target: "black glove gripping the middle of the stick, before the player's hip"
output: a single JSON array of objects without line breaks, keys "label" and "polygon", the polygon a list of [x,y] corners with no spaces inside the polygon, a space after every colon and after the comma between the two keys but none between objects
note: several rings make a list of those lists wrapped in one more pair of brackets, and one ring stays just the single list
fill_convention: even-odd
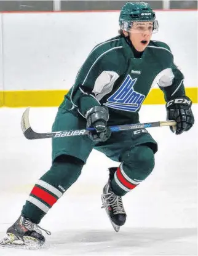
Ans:
[{"label": "black glove gripping the middle of the stick, before the player's hip", "polygon": [[93,142],[105,142],[111,135],[111,130],[106,126],[109,111],[105,106],[93,106],[86,113],[87,128],[94,127],[88,136]]}]

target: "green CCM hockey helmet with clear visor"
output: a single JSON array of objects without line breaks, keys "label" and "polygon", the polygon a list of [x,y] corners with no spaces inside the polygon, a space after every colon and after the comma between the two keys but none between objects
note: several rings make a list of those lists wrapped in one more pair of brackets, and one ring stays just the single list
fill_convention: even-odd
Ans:
[{"label": "green CCM hockey helmet with clear visor", "polygon": [[147,2],[127,2],[121,9],[119,25],[122,30],[130,31],[133,22],[152,22],[153,33],[158,31],[156,14]]}]

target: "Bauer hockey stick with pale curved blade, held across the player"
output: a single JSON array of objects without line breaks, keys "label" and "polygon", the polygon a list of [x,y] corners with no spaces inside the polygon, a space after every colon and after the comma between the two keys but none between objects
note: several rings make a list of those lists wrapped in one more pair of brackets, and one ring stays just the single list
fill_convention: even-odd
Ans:
[{"label": "Bauer hockey stick with pale curved blade, held across the player", "polygon": [[[46,132],[38,133],[34,132],[31,129],[29,121],[29,111],[30,108],[26,108],[25,112],[22,115],[21,126],[23,134],[28,140],[35,140],[38,138],[60,138],[68,136],[77,136],[77,135],[87,135],[89,130],[95,130],[94,128],[89,128],[87,130],[60,130],[58,132]],[[121,126],[109,126],[111,132],[119,132],[121,130],[134,130],[138,128],[149,128],[149,127],[160,127],[160,126],[175,126],[176,122],[173,120],[167,121],[158,121],[158,122],[145,122],[143,124],[123,124]]]}]

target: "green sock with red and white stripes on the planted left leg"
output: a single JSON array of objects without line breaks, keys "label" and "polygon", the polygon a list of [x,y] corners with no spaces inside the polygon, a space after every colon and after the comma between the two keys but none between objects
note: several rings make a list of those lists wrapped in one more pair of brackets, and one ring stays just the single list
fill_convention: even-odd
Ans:
[{"label": "green sock with red and white stripes on the planted left leg", "polygon": [[34,185],[22,215],[38,224],[49,209],[76,182],[84,162],[71,156],[59,156],[52,167]]}]

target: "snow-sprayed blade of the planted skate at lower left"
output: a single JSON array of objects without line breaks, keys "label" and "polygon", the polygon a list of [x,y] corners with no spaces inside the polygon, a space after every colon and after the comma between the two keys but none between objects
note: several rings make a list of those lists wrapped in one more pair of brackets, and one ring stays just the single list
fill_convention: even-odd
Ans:
[{"label": "snow-sprayed blade of the planted skate at lower left", "polygon": [[42,246],[36,238],[23,236],[23,241],[17,239],[14,234],[7,234],[7,237],[0,242],[1,247],[18,248],[18,249],[39,249]]}]

